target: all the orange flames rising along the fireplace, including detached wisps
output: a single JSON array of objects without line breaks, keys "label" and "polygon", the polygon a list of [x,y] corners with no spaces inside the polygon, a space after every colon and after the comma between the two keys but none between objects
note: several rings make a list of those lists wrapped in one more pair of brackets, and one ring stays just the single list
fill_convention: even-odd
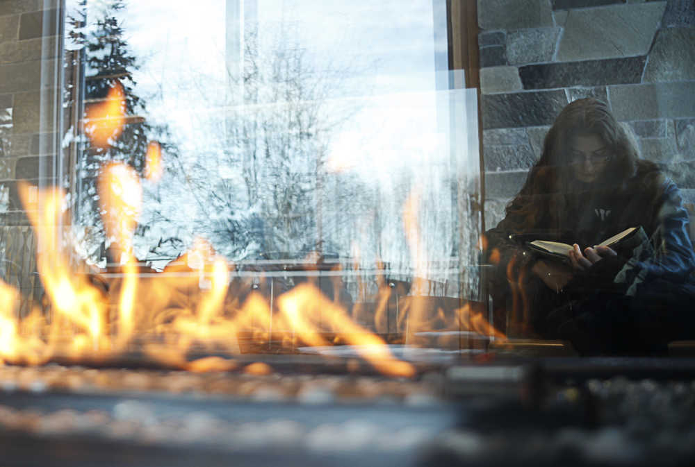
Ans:
[{"label": "all the orange flames rising along the fireplace, including detached wisps", "polygon": [[[106,101],[92,104],[86,111],[85,133],[94,146],[115,142],[125,123],[124,112],[123,87],[115,82]],[[156,182],[163,171],[157,142],[149,144],[145,160],[145,178]],[[480,309],[468,304],[456,309],[434,306],[432,297],[424,295],[428,259],[418,230],[418,190],[403,209],[414,265],[411,291],[392,287],[384,277],[384,265],[377,264],[377,292],[366,306],[367,287],[360,278],[358,261],[356,269],[349,272],[357,277],[363,300],[346,309],[339,300],[343,287],[340,266],[332,269],[334,300],[322,294],[318,281],[311,280],[270,300],[259,291],[243,299],[235,296],[236,291],[249,289],[250,282],[240,285],[241,279],[233,274],[234,265],[217,255],[204,239],[196,239],[190,251],[164,273],[154,273],[138,264],[133,251],[133,235],[142,211],[140,176],[126,164],[111,162],[101,168],[97,185],[99,209],[111,245],[111,266],[103,275],[103,271],[76,271],[63,228],[70,226],[65,194],[57,188],[39,190],[21,185],[20,195],[36,232],[37,268],[49,305],[19,319],[21,297],[0,281],[0,303],[4,304],[0,305],[0,364],[42,364],[54,356],[77,361],[109,358],[137,346],[162,364],[189,371],[270,373],[272,368],[262,362],[242,369],[231,358],[207,356],[188,361],[188,355],[196,352],[237,355],[247,345],[240,336],[250,335],[254,343],[268,342],[269,347],[272,343],[288,348],[347,343],[385,375],[413,377],[416,369],[412,364],[396,359],[382,337],[358,324],[366,323],[371,315],[376,332],[391,334],[391,301],[398,311],[395,331],[404,334],[406,343],[415,344],[417,332],[433,329],[470,330],[505,338],[484,319]],[[352,249],[359,258],[359,245]],[[234,287],[230,287],[232,283]]]}]

